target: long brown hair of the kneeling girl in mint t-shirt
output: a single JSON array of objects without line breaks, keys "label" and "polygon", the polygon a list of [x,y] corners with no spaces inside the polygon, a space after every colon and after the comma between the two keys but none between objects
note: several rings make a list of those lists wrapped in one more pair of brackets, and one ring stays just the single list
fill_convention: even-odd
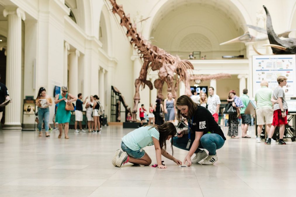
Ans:
[{"label": "long brown hair of the kneeling girl in mint t-shirt", "polygon": [[158,132],[159,132],[159,145],[160,145],[160,148],[162,150],[164,150],[164,151],[166,150],[166,142],[165,141],[168,139],[169,135],[172,135],[172,140],[170,141],[170,148],[172,149],[173,154],[174,154],[173,137],[177,133],[175,125],[173,125],[173,123],[171,123],[171,122],[165,122],[162,125],[145,125],[144,127],[147,127],[147,126],[151,126],[151,128],[154,127],[154,128],[156,128],[156,130],[158,130]]}]

